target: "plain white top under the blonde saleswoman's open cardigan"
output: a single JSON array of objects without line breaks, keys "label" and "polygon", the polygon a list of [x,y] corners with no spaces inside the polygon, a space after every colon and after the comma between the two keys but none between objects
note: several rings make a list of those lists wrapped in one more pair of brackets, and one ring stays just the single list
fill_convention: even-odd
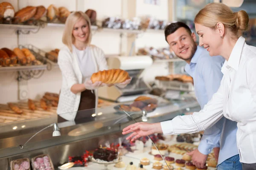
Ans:
[{"label": "plain white top under the blonde saleswoman's open cardigan", "polygon": [[92,74],[95,73],[93,57],[91,56],[90,49],[88,47],[84,50],[79,50],[75,45],[73,45],[73,49],[76,51],[79,68],[83,75],[82,82],[84,82],[85,79],[90,78]]}]

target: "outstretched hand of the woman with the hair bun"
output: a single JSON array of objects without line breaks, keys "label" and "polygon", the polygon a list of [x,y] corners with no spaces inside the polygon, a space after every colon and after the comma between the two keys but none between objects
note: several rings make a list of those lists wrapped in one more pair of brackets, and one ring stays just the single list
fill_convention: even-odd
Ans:
[{"label": "outstretched hand of the woman with the hair bun", "polygon": [[122,134],[125,135],[131,132],[133,133],[130,136],[128,136],[126,140],[130,140],[132,138],[131,141],[135,141],[141,136],[147,136],[154,133],[163,133],[163,130],[160,123],[140,122],[125,127],[123,129]]}]

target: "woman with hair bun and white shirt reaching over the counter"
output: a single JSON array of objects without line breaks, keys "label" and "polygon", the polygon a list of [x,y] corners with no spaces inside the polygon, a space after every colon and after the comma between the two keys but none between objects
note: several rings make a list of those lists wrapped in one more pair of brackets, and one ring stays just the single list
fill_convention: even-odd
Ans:
[{"label": "woman with hair bun and white shirt reaching over the counter", "polygon": [[177,116],[166,122],[136,123],[125,127],[127,139],[138,139],[152,133],[195,133],[215,124],[222,116],[237,122],[236,142],[243,170],[256,170],[256,47],[247,45],[239,33],[248,28],[248,14],[233,12],[222,3],[210,3],[195,17],[199,45],[211,56],[226,61],[218,91],[193,115]]}]

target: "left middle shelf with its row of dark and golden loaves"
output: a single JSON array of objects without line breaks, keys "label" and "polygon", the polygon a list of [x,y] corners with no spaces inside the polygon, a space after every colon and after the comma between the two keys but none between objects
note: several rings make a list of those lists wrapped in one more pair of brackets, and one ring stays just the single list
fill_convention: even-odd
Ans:
[{"label": "left middle shelf with its row of dark and golden loaves", "polygon": [[0,49],[0,72],[46,69],[46,58],[35,52],[31,45]]}]

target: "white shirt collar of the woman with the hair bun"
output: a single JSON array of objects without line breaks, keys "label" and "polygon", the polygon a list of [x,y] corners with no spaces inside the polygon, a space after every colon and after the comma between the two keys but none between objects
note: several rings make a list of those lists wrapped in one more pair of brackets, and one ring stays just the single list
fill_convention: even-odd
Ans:
[{"label": "white shirt collar of the woman with the hair bun", "polygon": [[233,69],[235,69],[236,71],[238,70],[238,67],[239,67],[239,62],[240,62],[240,58],[241,58],[241,53],[242,53],[242,49],[243,49],[243,46],[244,46],[244,42],[245,42],[245,38],[244,37],[240,37],[231,54],[230,54],[230,57],[227,61],[227,65],[232,67]]}]

